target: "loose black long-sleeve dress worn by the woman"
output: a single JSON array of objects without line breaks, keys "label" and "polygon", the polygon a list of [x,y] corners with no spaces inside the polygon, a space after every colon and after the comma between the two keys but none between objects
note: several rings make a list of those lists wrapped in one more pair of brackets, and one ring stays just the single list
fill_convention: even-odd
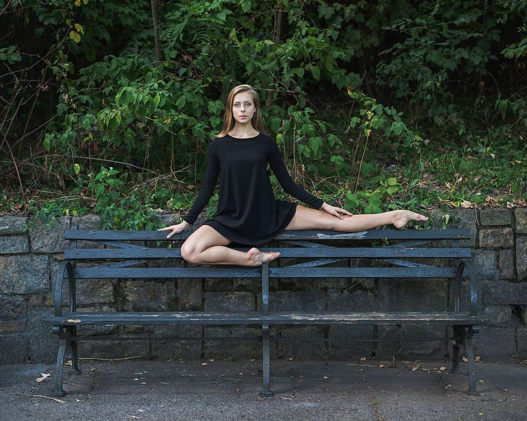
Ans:
[{"label": "loose black long-sleeve dress worn by the woman", "polygon": [[286,193],[316,209],[323,205],[322,199],[292,181],[272,137],[264,133],[249,138],[225,135],[210,142],[203,186],[183,219],[194,223],[209,203],[220,175],[217,212],[203,224],[216,229],[231,243],[257,245],[276,237],[291,222],[296,203],[275,198],[268,162]]}]

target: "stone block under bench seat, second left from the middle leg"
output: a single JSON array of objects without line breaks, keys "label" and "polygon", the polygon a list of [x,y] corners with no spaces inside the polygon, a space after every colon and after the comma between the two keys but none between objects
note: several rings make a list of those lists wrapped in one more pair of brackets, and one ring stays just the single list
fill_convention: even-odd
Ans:
[{"label": "stone block under bench seat, second left from the middle leg", "polygon": [[[152,326],[152,337],[201,337],[201,326]],[[151,340],[150,356],[158,359],[201,359],[201,340]]]}]

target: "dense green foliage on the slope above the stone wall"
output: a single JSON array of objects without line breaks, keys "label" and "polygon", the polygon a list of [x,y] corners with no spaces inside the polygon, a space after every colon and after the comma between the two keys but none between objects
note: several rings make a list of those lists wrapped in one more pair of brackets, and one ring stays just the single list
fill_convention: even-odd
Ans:
[{"label": "dense green foliage on the slope above the stone wall", "polygon": [[0,212],[154,228],[241,83],[328,203],[526,197],[526,2],[0,0],[0,21]]}]

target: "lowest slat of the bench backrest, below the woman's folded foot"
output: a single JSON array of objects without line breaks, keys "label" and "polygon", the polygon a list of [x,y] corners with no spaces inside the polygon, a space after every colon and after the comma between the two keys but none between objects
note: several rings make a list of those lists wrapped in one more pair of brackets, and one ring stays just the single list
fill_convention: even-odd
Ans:
[{"label": "lowest slat of the bench backrest, below the woman's folded foot", "polygon": [[[271,278],[452,278],[454,267],[270,267]],[[76,268],[77,279],[261,278],[261,268]]]}]

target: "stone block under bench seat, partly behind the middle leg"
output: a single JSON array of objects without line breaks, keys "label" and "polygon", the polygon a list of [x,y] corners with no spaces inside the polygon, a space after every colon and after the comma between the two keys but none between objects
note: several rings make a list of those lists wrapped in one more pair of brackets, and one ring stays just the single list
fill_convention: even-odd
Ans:
[{"label": "stone block under bench seat, partly behind the middle leg", "polygon": [[[272,329],[272,328],[271,328]],[[204,326],[205,337],[252,337],[261,336],[261,326]],[[271,333],[272,335],[272,333]],[[276,355],[276,343],[271,341],[271,356]],[[212,339],[203,341],[204,358],[261,358],[261,340]]]}]

